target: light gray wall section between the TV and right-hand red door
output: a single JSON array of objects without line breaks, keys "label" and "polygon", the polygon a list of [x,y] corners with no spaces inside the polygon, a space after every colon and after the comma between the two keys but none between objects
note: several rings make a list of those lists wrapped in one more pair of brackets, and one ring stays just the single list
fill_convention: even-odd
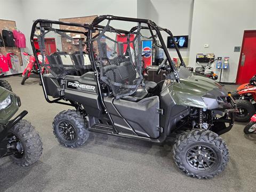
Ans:
[{"label": "light gray wall section between the TV and right-hand red door", "polygon": [[195,0],[189,65],[196,65],[196,53],[230,57],[230,69],[223,70],[221,82],[235,83],[240,52],[234,52],[234,46],[242,45],[246,29],[256,29],[256,1]]}]

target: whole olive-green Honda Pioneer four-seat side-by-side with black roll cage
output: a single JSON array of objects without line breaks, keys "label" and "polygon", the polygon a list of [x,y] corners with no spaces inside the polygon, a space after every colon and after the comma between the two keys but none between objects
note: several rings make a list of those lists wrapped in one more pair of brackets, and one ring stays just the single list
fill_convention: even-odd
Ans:
[{"label": "whole olive-green Honda Pioneer four-seat side-by-side with black roll cage", "polygon": [[[118,23],[131,28],[113,26]],[[50,65],[49,73],[40,73],[45,99],[75,108],[54,117],[53,132],[62,145],[73,148],[82,146],[90,131],[155,143],[173,137],[179,169],[212,178],[229,160],[219,135],[233,126],[236,104],[213,79],[187,70],[173,39],[181,61],[175,68],[163,33],[173,39],[170,30],[153,21],[113,15],[97,17],[90,25],[36,20],[30,37],[36,64],[39,70]],[[159,83],[143,79],[144,38],[165,53],[157,70],[165,71],[165,80]],[[54,51],[47,39],[55,42]]]}]

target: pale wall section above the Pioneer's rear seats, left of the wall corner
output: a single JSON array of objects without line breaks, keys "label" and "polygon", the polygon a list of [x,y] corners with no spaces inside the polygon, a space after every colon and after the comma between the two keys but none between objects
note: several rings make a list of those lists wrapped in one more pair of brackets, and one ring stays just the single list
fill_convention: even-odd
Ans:
[{"label": "pale wall section above the Pioneer's rear seats, left of the wall corner", "polygon": [[[24,32],[27,37],[30,36],[33,20],[36,19],[59,20],[60,18],[104,14],[137,17],[137,0],[22,0],[22,5],[26,9],[25,20],[27,29]],[[119,22],[117,25],[118,27],[126,27],[125,23],[122,22]]]}]

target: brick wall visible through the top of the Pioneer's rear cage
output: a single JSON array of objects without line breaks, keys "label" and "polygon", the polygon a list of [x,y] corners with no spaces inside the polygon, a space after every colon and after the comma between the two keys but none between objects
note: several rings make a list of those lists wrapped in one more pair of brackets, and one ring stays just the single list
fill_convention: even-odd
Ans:
[{"label": "brick wall visible through the top of the Pioneer's rear cage", "polygon": [[[84,23],[86,23],[86,24],[91,24],[92,21],[93,21],[96,17],[98,17],[98,15],[91,15],[91,16],[87,16],[87,17],[77,17],[77,18],[65,18],[65,19],[59,19],[59,21],[62,21],[62,22],[73,22],[73,23],[80,23],[80,24],[84,24]],[[64,26],[64,25],[60,25],[60,29],[76,30],[76,31],[83,31],[83,32],[86,31],[84,28],[81,28],[81,27]],[[98,31],[95,31],[95,33],[93,33],[93,35],[96,35],[97,33],[98,33]],[[71,37],[72,37],[72,36],[74,36],[74,35],[76,35],[76,34],[75,34],[75,33],[71,33],[70,35],[71,35]],[[83,34],[81,34],[81,37],[82,37],[82,38],[85,38]],[[70,44],[70,46],[69,46],[69,50],[70,50],[70,49],[72,49],[72,48],[70,48],[70,47],[74,47],[74,46],[71,46],[72,42],[70,42],[69,44]],[[65,41],[65,42],[62,41],[62,46],[65,46],[65,47],[63,47],[62,50],[67,49],[67,46],[68,46],[67,42],[66,42],[66,41]],[[77,46],[78,46],[78,45],[77,45]],[[96,50],[98,50],[98,49],[97,49],[97,42],[93,42],[93,46],[94,46],[94,48],[95,48]]]}]

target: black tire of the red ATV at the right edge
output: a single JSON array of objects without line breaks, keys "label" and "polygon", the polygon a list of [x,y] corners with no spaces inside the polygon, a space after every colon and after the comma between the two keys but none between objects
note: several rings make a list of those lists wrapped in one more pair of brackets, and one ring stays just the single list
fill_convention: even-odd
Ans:
[{"label": "black tire of the red ATV at the right edge", "polygon": [[236,106],[238,113],[235,114],[235,121],[249,122],[250,118],[255,114],[255,108],[250,101],[237,99]]}]

